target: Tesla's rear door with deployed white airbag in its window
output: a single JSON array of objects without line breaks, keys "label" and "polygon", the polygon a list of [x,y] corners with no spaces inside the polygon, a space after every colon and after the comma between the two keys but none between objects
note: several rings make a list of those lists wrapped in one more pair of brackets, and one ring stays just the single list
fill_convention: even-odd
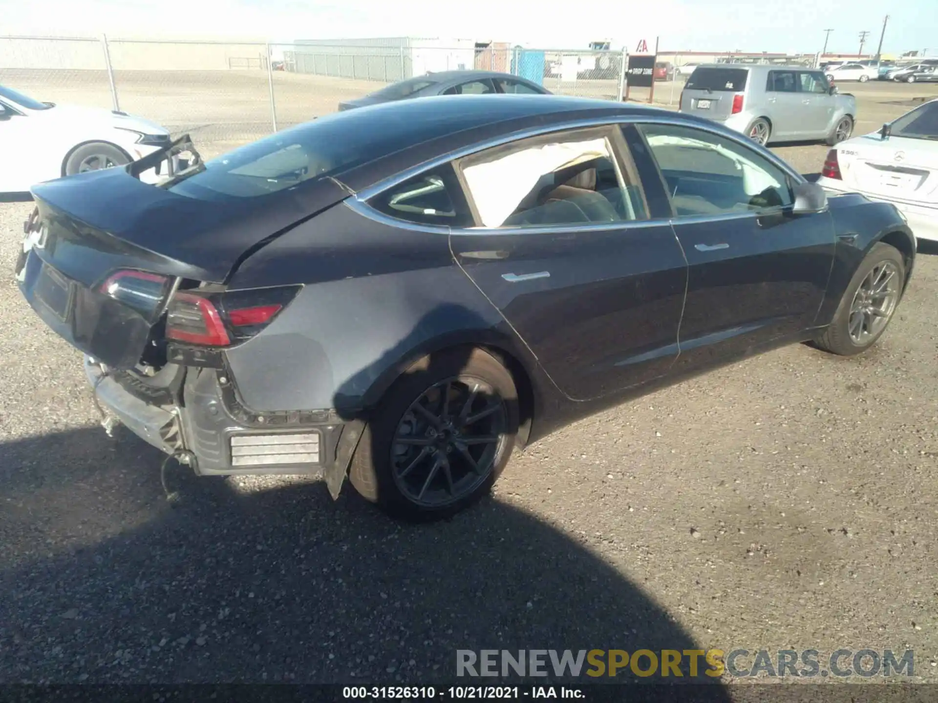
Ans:
[{"label": "Tesla's rear door with deployed white airbag in its window", "polygon": [[456,165],[478,224],[452,230],[453,254],[563,393],[604,396],[667,372],[687,266],[667,220],[649,221],[618,127]]}]

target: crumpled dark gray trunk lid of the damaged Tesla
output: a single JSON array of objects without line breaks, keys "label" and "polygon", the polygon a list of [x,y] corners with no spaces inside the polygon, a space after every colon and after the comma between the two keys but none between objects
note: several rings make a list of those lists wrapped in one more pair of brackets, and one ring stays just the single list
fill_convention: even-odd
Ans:
[{"label": "crumpled dark gray trunk lid of the damaged Tesla", "polygon": [[[212,202],[148,186],[117,168],[40,184],[33,188],[38,218],[24,228],[16,278],[56,334],[108,366],[132,368],[163,343],[162,313],[179,281],[224,282],[250,251],[348,196],[329,179],[306,186],[264,202]],[[161,289],[154,284],[152,310],[102,290],[118,271],[165,278]]]}]

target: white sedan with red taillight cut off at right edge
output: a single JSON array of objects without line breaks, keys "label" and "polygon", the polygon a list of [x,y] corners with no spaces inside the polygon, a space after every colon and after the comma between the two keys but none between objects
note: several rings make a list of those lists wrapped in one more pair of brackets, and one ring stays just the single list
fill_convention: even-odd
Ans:
[{"label": "white sedan with red taillight cut off at right edge", "polygon": [[938,240],[938,99],[827,153],[820,183],[892,202],[919,239]]}]

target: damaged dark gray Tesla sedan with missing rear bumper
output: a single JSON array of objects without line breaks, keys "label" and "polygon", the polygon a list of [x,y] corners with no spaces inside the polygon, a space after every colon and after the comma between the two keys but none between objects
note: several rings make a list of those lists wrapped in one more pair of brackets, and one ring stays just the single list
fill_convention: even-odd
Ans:
[{"label": "damaged dark gray Tesla sedan with missing rear bumper", "polygon": [[413,518],[662,384],[866,350],[915,259],[892,205],[614,102],[404,100],[135,173],[35,187],[16,266],[100,403],[197,473],[348,476]]}]

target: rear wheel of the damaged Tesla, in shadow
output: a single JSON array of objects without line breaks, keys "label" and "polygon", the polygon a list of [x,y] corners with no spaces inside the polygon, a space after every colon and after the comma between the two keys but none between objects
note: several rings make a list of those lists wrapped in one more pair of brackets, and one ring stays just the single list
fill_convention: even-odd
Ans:
[{"label": "rear wheel of the damaged Tesla, in shadow", "polygon": [[469,347],[432,353],[371,414],[350,479],[392,516],[451,516],[490,491],[517,431],[518,394],[498,359]]}]

